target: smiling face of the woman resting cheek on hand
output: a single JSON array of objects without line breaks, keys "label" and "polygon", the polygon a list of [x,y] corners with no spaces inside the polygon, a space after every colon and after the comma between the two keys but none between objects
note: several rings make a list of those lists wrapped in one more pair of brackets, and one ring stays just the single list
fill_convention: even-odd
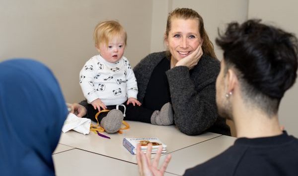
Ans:
[{"label": "smiling face of the woman resting cheek on hand", "polygon": [[171,53],[171,59],[178,62],[190,55],[202,43],[199,20],[176,17],[171,19],[170,31],[165,37],[165,44]]}]

